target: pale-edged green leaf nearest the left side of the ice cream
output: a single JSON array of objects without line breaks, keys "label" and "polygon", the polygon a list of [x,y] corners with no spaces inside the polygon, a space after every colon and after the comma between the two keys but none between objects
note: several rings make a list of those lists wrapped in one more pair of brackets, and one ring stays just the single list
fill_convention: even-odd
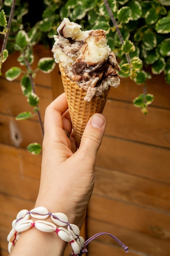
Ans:
[{"label": "pale-edged green leaf nearest the left side of the ice cream", "polygon": [[43,73],[50,73],[55,67],[55,61],[54,58],[45,57],[41,58],[38,62],[38,68]]}]

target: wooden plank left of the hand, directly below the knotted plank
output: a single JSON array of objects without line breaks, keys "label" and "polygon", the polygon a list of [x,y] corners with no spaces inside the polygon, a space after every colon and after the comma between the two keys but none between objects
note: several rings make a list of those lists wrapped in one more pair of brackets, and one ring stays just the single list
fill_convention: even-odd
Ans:
[{"label": "wooden plank left of the hand, directly below the knotted plank", "polygon": [[0,168],[15,175],[40,179],[42,155],[0,144]]}]

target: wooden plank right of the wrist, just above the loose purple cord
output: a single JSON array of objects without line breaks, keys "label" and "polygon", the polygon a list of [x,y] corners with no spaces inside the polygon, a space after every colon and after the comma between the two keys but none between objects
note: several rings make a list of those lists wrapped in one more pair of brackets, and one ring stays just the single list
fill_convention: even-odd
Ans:
[{"label": "wooden plank right of the wrist, just above the loose purple cord", "polygon": [[88,205],[88,218],[162,240],[170,239],[170,213],[155,211],[149,207],[139,207],[92,195]]}]

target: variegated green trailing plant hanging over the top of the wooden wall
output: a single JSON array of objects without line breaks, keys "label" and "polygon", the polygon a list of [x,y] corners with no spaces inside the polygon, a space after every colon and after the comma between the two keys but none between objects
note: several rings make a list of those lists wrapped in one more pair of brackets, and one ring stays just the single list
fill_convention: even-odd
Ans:
[{"label": "variegated green trailing plant hanging over the top of the wooden wall", "polygon": [[[38,0],[37,4],[42,9],[35,11],[37,15],[34,13],[35,20],[32,20],[31,11],[35,9],[32,1],[5,0],[0,3],[0,34],[5,42],[0,67],[8,52],[20,52],[18,61],[27,70],[21,81],[22,92],[29,103],[33,102],[35,112],[39,115],[33,83],[37,70],[31,69],[33,46],[42,43],[52,47],[53,35],[62,19],[67,17],[82,25],[84,30],[106,30],[108,45],[120,60],[119,75],[144,86],[144,93],[133,103],[147,114],[147,106],[154,99],[146,92],[148,79],[152,74],[163,73],[170,84],[170,0]],[[51,72],[53,67],[54,61],[50,58],[42,59],[38,64],[42,72]],[[20,73],[19,67],[12,67],[6,77],[13,80]],[[24,112],[17,118],[32,115]]]}]

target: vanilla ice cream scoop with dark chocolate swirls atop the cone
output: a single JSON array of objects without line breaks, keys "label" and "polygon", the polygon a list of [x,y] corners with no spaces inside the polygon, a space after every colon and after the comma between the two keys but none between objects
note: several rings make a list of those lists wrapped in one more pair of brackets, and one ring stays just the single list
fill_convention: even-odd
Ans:
[{"label": "vanilla ice cream scoop with dark chocolate swirls atop the cone", "polygon": [[99,96],[109,86],[120,83],[120,67],[107,45],[106,31],[82,31],[81,26],[64,18],[54,36],[53,56],[64,72],[79,88],[86,91],[85,101]]}]

